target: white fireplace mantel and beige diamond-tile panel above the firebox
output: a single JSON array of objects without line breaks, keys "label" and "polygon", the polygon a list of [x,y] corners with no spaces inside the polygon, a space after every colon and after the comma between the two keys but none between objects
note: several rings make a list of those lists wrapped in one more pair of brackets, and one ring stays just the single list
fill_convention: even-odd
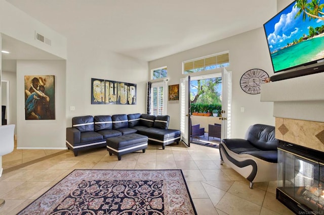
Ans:
[{"label": "white fireplace mantel and beige diamond-tile panel above the firebox", "polygon": [[324,73],[262,84],[273,102],[276,138],[324,151]]}]

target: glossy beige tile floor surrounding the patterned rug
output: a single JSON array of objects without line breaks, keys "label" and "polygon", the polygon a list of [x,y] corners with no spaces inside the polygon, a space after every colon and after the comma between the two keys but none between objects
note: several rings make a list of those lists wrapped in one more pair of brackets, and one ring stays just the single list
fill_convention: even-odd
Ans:
[{"label": "glossy beige tile floor surrounding the patterned rug", "polygon": [[[38,150],[29,153],[38,157]],[[275,199],[275,182],[255,183],[250,189],[245,178],[220,165],[218,149],[183,143],[165,150],[149,145],[145,153],[126,154],[120,161],[105,148],[81,151],[77,157],[65,150],[17,170],[5,169],[0,198],[6,204],[0,214],[16,214],[74,169],[181,169],[198,214],[294,214]]]}]

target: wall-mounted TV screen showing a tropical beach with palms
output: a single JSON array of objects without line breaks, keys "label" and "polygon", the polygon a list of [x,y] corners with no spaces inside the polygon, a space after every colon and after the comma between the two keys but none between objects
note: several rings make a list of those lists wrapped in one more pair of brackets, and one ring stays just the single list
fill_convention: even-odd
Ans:
[{"label": "wall-mounted TV screen showing a tropical beach with palms", "polygon": [[324,59],[323,3],[294,1],[263,25],[275,73]]}]

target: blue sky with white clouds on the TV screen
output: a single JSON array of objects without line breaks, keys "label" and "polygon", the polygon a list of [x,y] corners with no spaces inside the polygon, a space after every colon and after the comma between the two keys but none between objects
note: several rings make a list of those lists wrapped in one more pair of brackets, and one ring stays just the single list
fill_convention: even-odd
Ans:
[{"label": "blue sky with white clouds on the TV screen", "polygon": [[[311,2],[308,0],[308,2]],[[275,17],[264,24],[265,33],[268,39],[270,52],[286,46],[295,39],[303,37],[304,34],[309,35],[309,27],[313,28],[324,25],[324,22],[319,19],[309,19],[306,16],[303,21],[303,15],[295,19],[299,8],[294,7],[296,2],[293,2],[286,9],[281,11]]]}]

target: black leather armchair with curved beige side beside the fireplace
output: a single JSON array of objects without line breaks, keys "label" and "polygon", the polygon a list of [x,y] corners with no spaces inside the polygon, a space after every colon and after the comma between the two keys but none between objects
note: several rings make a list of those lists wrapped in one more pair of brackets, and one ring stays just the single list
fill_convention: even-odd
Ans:
[{"label": "black leather armchair with curved beige side beside the fireplace", "polygon": [[[250,126],[245,139],[223,139],[219,145],[222,163],[250,181],[277,180],[277,145],[274,126]],[[222,164],[221,163],[221,164]]]}]

